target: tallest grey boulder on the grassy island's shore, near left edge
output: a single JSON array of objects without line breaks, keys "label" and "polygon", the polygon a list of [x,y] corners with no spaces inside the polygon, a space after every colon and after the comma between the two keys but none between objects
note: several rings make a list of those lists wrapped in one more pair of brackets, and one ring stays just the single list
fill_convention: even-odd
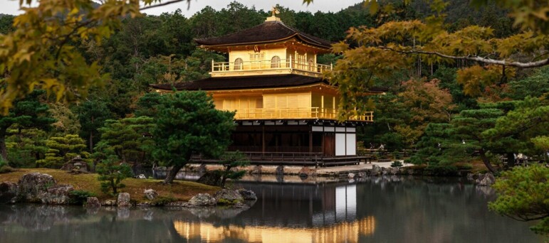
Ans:
[{"label": "tallest grey boulder on the grassy island's shore, near left edge", "polygon": [[41,202],[40,196],[56,185],[53,176],[43,173],[28,173],[19,179],[17,197],[23,202]]}]

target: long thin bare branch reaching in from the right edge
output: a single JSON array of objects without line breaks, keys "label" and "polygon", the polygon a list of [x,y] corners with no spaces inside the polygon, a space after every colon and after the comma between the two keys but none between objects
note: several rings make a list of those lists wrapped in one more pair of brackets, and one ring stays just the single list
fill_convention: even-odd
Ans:
[{"label": "long thin bare branch reaching in from the right edge", "polygon": [[506,60],[495,60],[491,58],[482,58],[477,55],[446,55],[444,53],[438,53],[436,51],[424,51],[424,50],[395,50],[394,48],[389,48],[386,46],[378,46],[377,48],[380,48],[382,50],[391,50],[396,53],[402,53],[402,54],[425,54],[425,55],[436,55],[441,58],[449,58],[449,59],[456,59],[456,60],[474,60],[479,63],[487,63],[487,64],[494,64],[494,65],[503,65],[503,66],[509,66],[509,67],[515,67],[515,68],[538,68],[545,65],[549,65],[549,58],[538,60],[535,62],[528,62],[528,63],[521,63],[521,62],[508,62]]}]

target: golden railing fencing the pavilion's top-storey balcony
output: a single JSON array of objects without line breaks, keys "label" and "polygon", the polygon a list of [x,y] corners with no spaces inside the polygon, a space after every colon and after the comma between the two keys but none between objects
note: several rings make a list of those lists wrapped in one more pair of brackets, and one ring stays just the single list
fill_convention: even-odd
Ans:
[{"label": "golden railing fencing the pavilion's top-storey balcony", "polygon": [[240,63],[234,62],[214,62],[211,61],[211,72],[241,72],[247,70],[302,70],[307,72],[322,73],[328,70],[332,70],[331,65],[323,65],[318,63],[300,63],[296,60],[282,59],[280,61],[272,60],[257,60],[246,61]]}]

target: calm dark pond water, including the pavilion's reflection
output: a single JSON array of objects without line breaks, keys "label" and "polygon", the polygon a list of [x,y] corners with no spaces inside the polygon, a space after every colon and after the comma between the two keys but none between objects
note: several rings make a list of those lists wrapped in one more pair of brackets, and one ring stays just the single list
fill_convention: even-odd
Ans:
[{"label": "calm dark pond water, including the pavilion's reflection", "polygon": [[[459,180],[249,182],[249,210],[0,205],[0,242],[543,242]],[[292,181],[292,180],[290,180]],[[298,180],[294,180],[298,181]]]}]

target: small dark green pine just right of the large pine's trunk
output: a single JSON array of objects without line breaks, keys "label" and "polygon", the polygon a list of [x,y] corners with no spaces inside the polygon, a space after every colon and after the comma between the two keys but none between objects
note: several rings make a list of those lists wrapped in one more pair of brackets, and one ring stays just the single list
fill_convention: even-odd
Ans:
[{"label": "small dark green pine just right of the large pine's trunk", "polygon": [[239,166],[249,166],[250,161],[244,153],[240,151],[226,152],[220,158],[220,162],[223,165],[223,169],[218,173],[221,175],[221,188],[225,188],[225,181],[227,179],[238,180],[246,174],[246,171],[237,171]]}]

